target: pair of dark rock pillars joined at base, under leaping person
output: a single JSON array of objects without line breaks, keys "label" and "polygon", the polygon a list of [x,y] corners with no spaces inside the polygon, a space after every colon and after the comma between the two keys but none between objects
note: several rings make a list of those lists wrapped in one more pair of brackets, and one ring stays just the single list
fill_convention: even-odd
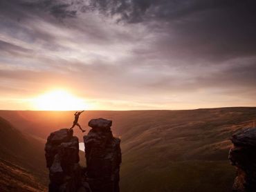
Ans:
[{"label": "pair of dark rock pillars joined at base, under leaping person", "polygon": [[91,119],[91,131],[84,135],[86,168],[79,164],[78,138],[67,128],[48,137],[46,166],[49,192],[119,192],[120,139],[113,137],[112,122]]}]

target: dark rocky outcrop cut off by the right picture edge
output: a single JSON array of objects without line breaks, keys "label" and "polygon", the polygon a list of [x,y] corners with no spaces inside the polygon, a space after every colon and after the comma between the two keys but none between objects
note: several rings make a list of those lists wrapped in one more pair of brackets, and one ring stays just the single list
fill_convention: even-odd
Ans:
[{"label": "dark rocky outcrop cut off by the right picture edge", "polygon": [[237,167],[233,191],[256,191],[256,128],[232,135],[229,160]]}]

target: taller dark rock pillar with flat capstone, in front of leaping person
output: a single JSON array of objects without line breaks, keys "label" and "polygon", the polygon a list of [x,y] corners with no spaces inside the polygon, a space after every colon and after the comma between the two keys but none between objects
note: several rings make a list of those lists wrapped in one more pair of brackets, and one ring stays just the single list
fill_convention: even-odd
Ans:
[{"label": "taller dark rock pillar with flat capstone, in front of leaping person", "polygon": [[91,131],[84,135],[86,168],[93,192],[118,192],[121,163],[120,139],[113,137],[112,122],[91,119]]}]

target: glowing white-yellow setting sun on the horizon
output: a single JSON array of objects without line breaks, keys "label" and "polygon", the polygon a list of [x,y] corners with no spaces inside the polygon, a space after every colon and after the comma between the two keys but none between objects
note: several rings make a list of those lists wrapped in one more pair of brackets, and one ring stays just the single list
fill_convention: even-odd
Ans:
[{"label": "glowing white-yellow setting sun on the horizon", "polygon": [[40,111],[76,111],[87,108],[85,99],[75,97],[66,90],[52,90],[33,99],[33,106]]}]

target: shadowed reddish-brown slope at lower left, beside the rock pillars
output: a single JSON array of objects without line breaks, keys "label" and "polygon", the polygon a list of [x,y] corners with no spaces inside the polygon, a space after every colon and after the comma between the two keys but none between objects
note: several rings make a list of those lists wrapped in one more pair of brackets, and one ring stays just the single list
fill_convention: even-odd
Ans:
[{"label": "shadowed reddish-brown slope at lower left, beside the rock pillars", "polygon": [[46,191],[44,144],[0,117],[0,191]]}]

